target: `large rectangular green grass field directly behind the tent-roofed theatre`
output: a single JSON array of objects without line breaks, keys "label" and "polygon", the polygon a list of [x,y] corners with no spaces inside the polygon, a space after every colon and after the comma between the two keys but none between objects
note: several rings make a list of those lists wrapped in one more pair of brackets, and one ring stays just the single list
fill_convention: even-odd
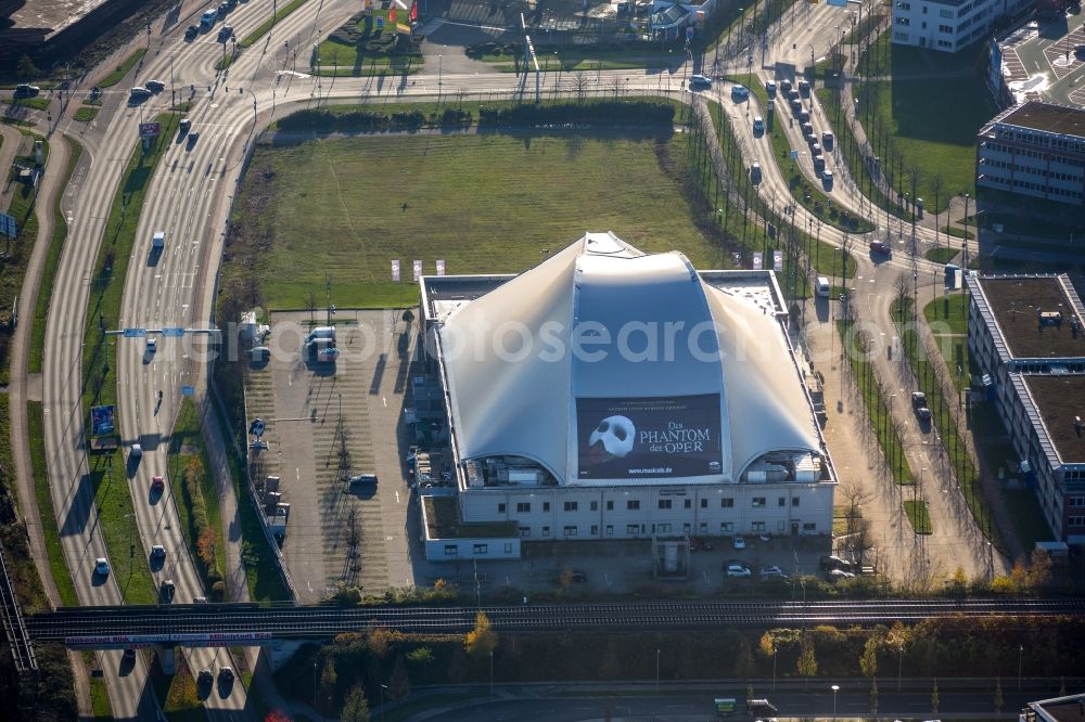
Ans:
[{"label": "large rectangular green grass field directly behind the tent-roofed theatre", "polygon": [[238,220],[275,248],[258,269],[271,308],[322,301],[326,274],[339,306],[413,304],[417,287],[409,273],[392,282],[392,259],[421,259],[431,273],[438,258],[449,273],[518,272],[586,230],[720,267],[660,151],[653,134],[616,131],[260,146]]}]

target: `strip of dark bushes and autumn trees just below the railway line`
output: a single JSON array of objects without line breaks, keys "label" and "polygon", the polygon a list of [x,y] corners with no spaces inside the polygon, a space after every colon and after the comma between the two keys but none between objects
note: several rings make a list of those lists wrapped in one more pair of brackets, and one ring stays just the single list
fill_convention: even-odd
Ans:
[{"label": "strip of dark bushes and autumn trees just below the railway line", "polygon": [[[659,650],[659,655],[656,655]],[[727,650],[722,654],[722,650]],[[278,673],[286,694],[326,713],[359,695],[398,700],[414,684],[548,680],[878,679],[1058,676],[1085,669],[1085,620],[991,617],[931,619],[873,629],[719,629],[697,632],[501,634],[480,614],[467,635],[384,629],[343,634],[299,652]],[[312,671],[317,671],[312,699]],[[936,694],[936,693],[935,693]],[[344,715],[344,719],[348,719]],[[358,718],[350,718],[358,719]]]}]

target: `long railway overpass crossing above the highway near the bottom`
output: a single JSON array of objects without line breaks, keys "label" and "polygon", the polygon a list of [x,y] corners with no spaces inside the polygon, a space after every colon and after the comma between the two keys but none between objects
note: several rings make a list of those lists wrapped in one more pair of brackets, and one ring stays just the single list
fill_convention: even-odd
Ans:
[{"label": "long railway overpass crossing above the highway near the bottom", "polygon": [[26,618],[37,642],[72,649],[129,646],[270,645],[331,639],[371,628],[459,634],[484,611],[498,632],[698,630],[718,627],[915,623],[937,617],[1059,617],[1085,614],[1085,598],[940,598],[832,602],[640,602],[485,607],[192,604],[63,607]]}]

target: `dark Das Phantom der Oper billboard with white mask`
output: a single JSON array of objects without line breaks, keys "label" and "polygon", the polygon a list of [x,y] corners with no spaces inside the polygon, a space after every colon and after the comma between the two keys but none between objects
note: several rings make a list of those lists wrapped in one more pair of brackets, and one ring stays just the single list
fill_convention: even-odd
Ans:
[{"label": "dark Das Phantom der Oper billboard with white mask", "polygon": [[718,394],[576,399],[576,429],[580,480],[723,470]]}]

